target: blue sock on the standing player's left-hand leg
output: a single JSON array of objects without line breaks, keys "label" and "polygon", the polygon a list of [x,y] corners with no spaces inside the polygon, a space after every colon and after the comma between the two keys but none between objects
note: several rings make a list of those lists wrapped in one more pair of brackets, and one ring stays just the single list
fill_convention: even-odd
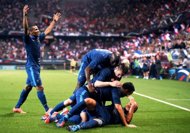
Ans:
[{"label": "blue sock on the standing player's left-hand leg", "polygon": [[30,90],[25,90],[23,89],[22,92],[20,93],[20,98],[15,106],[15,108],[20,108],[20,106],[25,102],[26,98],[28,97],[28,94],[30,93]]}]

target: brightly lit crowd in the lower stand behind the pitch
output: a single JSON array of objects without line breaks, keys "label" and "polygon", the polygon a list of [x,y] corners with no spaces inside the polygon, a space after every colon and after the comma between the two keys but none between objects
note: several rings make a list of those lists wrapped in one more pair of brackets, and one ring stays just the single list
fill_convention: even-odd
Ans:
[{"label": "brightly lit crowd in the lower stand behind the pitch", "polygon": [[[190,68],[190,38],[182,33],[170,33],[168,38],[158,36],[151,38],[151,41],[146,36],[131,39],[45,40],[41,47],[41,58],[67,61],[74,59],[80,63],[82,56],[89,50],[103,48],[120,53],[126,72],[137,78],[161,79],[168,77],[171,68]],[[0,60],[4,63],[26,59],[22,39],[3,39],[0,42]]]}]

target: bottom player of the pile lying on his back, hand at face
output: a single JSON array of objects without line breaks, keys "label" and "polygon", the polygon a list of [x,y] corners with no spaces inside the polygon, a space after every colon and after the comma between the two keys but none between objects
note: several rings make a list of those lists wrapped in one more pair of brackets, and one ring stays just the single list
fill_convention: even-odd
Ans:
[{"label": "bottom player of the pile lying on his back, hand at face", "polygon": [[[130,96],[131,97],[131,96]],[[130,124],[133,114],[137,111],[138,105],[134,98],[130,98],[130,102],[123,108],[125,113],[127,127],[135,128],[135,125]],[[76,132],[80,129],[89,129],[94,127],[101,127],[108,124],[122,124],[119,117],[119,113],[113,105],[101,106],[94,99],[85,99],[86,103],[86,117],[88,121],[81,122],[77,125],[67,126],[66,129],[72,132]],[[130,125],[129,125],[130,124]]]}]

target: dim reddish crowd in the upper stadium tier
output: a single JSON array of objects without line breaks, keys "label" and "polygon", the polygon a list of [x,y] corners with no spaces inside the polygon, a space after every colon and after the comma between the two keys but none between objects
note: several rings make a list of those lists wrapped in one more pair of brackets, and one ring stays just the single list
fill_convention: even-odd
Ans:
[{"label": "dim reddish crowd in the upper stadium tier", "polygon": [[[1,0],[0,29],[22,30],[23,0]],[[74,33],[122,33],[154,27],[168,16],[190,8],[189,0],[38,0],[28,1],[30,22],[43,30],[56,11],[62,20],[54,31]],[[48,17],[49,16],[49,17]]]}]

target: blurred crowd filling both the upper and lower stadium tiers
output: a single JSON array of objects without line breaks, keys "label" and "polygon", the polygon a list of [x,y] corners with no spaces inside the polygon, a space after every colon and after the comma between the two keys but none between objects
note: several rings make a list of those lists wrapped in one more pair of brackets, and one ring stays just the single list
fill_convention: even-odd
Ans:
[{"label": "blurred crowd filling both the upper and lower stadium tiers", "polygon": [[[64,35],[142,30],[190,7],[188,0],[38,0],[28,4],[30,24],[36,24],[42,31],[52,13],[62,12],[62,19],[53,31]],[[23,5],[22,0],[1,0],[0,33],[23,30]],[[26,59],[21,38],[0,39],[0,46],[0,62]],[[161,79],[171,68],[190,68],[190,26],[178,23],[160,34],[151,32],[131,38],[54,38],[43,42],[41,58],[80,62],[82,55],[94,48],[120,53],[126,71],[137,78]]]}]

